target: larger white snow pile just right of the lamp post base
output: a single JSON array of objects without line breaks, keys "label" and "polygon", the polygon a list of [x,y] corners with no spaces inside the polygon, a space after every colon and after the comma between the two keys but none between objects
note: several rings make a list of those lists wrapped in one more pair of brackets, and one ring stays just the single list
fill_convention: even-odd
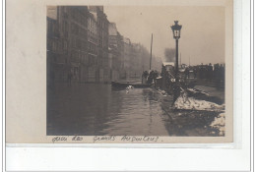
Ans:
[{"label": "larger white snow pile just right of the lamp post base", "polygon": [[186,109],[186,110],[205,110],[205,111],[223,111],[224,104],[219,105],[214,102],[198,100],[194,97],[188,97],[183,92],[174,102],[175,109]]}]

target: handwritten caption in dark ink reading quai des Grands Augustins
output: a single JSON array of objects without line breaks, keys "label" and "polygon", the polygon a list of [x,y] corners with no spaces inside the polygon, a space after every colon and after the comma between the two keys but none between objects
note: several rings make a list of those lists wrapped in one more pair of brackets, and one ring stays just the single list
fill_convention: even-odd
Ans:
[{"label": "handwritten caption in dark ink reading quai des Grands Augustins", "polygon": [[83,137],[83,136],[68,136],[68,137],[53,137],[52,143],[83,143],[88,141],[89,143],[157,143],[159,137],[155,136],[94,136]]}]

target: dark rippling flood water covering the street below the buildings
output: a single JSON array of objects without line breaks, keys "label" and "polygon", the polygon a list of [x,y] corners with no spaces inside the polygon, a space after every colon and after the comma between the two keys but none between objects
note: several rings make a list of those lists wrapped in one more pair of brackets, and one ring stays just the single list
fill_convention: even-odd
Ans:
[{"label": "dark rippling flood water covering the street below the buildings", "polygon": [[103,84],[47,88],[47,135],[219,136],[216,112],[171,111],[170,95],[153,88]]}]

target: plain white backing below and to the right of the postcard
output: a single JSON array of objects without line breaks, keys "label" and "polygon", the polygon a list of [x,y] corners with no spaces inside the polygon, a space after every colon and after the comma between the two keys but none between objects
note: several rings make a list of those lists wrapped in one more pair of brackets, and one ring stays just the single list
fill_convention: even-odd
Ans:
[{"label": "plain white backing below and to the right of the postcard", "polygon": [[[233,148],[12,147],[6,148],[7,170],[250,170],[250,2],[236,0],[234,38],[235,121],[242,129],[240,146]],[[240,5],[239,5],[240,4]],[[5,10],[5,9],[4,9]],[[235,9],[234,9],[235,10]],[[241,18],[241,23],[237,18]],[[240,27],[242,26],[242,28]],[[243,32],[244,34],[241,34]],[[241,56],[239,56],[239,46]],[[238,52],[237,52],[238,51]],[[238,55],[237,55],[238,54]],[[3,61],[5,64],[5,60]],[[242,82],[241,82],[242,81]],[[5,85],[5,83],[4,83]],[[4,86],[3,85],[3,86]],[[4,87],[3,87],[4,88]],[[4,103],[4,102],[3,102]],[[242,105],[240,108],[239,103]],[[3,104],[5,105],[5,104]],[[237,106],[236,106],[237,105]],[[4,106],[3,106],[4,107]],[[241,116],[241,118],[239,118]],[[241,122],[242,126],[240,125]],[[237,139],[237,140],[236,140]],[[99,144],[103,145],[103,144]],[[184,145],[184,144],[181,144]],[[202,146],[201,146],[202,147]]]}]

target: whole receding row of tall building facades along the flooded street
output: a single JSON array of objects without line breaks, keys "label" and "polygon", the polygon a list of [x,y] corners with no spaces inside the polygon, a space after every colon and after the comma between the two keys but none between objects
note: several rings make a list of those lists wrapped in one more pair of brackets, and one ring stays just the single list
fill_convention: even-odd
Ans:
[{"label": "whole receding row of tall building facades along the flooded street", "polygon": [[133,80],[149,64],[147,48],[122,36],[102,6],[47,8],[47,81]]}]

